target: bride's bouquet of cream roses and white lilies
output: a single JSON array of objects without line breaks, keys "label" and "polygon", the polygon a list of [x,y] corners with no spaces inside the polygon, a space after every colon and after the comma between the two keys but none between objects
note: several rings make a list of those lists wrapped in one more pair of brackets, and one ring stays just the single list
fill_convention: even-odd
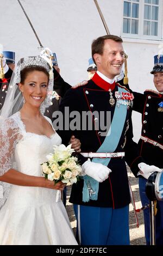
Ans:
[{"label": "bride's bouquet of cream roses and white lilies", "polygon": [[54,146],[54,153],[47,155],[46,162],[43,162],[43,175],[56,184],[59,181],[71,185],[76,183],[82,167],[78,164],[77,157],[72,156],[74,152],[71,144],[65,147],[64,144]]}]

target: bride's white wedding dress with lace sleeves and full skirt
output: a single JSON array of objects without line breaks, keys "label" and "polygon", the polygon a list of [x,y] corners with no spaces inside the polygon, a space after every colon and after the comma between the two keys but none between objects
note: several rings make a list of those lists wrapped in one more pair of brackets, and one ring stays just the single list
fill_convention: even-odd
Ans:
[{"label": "bride's white wedding dress with lace sleeves and full skirt", "polygon": [[[53,145],[61,144],[56,132],[51,138],[26,132],[20,112],[5,120],[0,141],[1,175],[15,161],[19,172],[42,176],[40,164],[47,161]],[[49,188],[12,185],[0,211],[0,245],[77,245],[58,193]]]}]

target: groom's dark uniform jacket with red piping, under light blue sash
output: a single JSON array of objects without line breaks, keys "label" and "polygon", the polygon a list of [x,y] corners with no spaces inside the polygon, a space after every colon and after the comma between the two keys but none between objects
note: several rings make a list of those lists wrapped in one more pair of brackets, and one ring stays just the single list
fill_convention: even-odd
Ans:
[{"label": "groom's dark uniform jacket with red piping, under light blue sash", "polygon": [[[98,84],[98,83],[97,83]],[[70,89],[67,91],[64,99],[61,101],[60,111],[63,114],[64,120],[67,118],[68,114],[65,112],[65,107],[69,107],[70,113],[72,111],[78,111],[81,115],[82,112],[87,111],[103,111],[104,116],[101,121],[105,123],[106,121],[106,112],[111,112],[111,120],[114,116],[115,106],[111,106],[109,103],[110,93],[108,90],[104,90],[99,87],[95,82],[90,80],[85,86],[79,87],[77,89]],[[112,96],[115,101],[115,91],[118,90],[120,84],[116,84],[114,90],[112,90]],[[70,197],[70,202],[73,204],[80,205],[91,205],[91,206],[101,206],[101,207],[113,207],[113,208],[122,208],[130,203],[130,194],[129,194],[129,185],[128,185],[128,176],[126,169],[126,162],[129,166],[134,163],[142,162],[143,160],[139,156],[137,144],[133,142],[133,129],[131,125],[131,107],[128,107],[126,120],[124,122],[124,127],[122,134],[119,138],[119,143],[115,152],[124,151],[126,156],[125,158],[117,157],[111,159],[108,167],[112,170],[109,174],[109,178],[102,183],[99,183],[98,199],[90,200],[87,203],[82,201],[82,191],[83,191],[83,180],[73,184],[72,192]],[[99,117],[100,118],[100,117]],[[71,123],[73,118],[70,118],[69,123]],[[71,135],[75,135],[80,139],[82,143],[82,152],[96,152],[100,145],[103,143],[105,137],[101,136],[101,130],[95,129],[96,120],[91,117],[92,130],[81,129],[73,130],[60,125],[60,130],[58,131],[59,135],[62,138],[62,143],[67,144],[70,141]],[[82,126],[82,118],[80,122],[78,121],[77,126]],[[99,120],[100,123],[100,120]],[[118,123],[117,123],[118,125]],[[108,145],[109,152],[109,145]],[[82,155],[78,155],[80,163],[84,163],[87,158]],[[134,173],[137,174],[137,170]]]}]

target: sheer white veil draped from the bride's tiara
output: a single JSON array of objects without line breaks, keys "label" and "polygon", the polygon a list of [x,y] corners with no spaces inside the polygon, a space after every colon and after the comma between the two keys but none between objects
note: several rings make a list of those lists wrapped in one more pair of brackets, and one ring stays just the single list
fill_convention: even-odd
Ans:
[{"label": "sheer white veil draped from the bride's tiara", "polygon": [[21,58],[15,67],[7,95],[5,97],[4,105],[0,111],[0,127],[4,119],[10,117],[10,115],[19,111],[23,105],[23,96],[18,88],[18,83],[21,81],[21,70],[32,66],[40,66],[47,70],[49,73],[49,82],[47,88],[46,99],[40,106],[40,112],[44,113],[45,109],[51,105],[52,94],[53,94],[53,71],[52,71],[52,60],[46,50],[40,53],[40,56],[32,56]]}]

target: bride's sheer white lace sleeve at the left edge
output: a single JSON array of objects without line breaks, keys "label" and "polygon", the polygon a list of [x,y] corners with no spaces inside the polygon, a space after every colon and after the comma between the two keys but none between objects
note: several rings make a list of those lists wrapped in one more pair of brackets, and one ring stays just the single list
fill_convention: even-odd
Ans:
[{"label": "bride's sheer white lace sleeve at the left edge", "polygon": [[13,168],[15,146],[22,137],[16,121],[12,117],[6,119],[0,129],[0,175]]}]

